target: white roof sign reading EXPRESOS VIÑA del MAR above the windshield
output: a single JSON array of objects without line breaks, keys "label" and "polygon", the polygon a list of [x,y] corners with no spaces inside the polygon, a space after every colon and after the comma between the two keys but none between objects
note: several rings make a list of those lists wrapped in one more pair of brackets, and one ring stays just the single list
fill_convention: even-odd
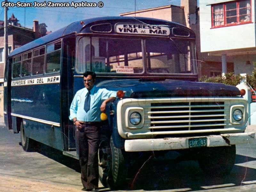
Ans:
[{"label": "white roof sign reading EXPRESOS VI\u00d1A del MAR above the windshield", "polygon": [[116,24],[116,33],[133,35],[170,35],[170,28],[162,25],[122,23]]}]

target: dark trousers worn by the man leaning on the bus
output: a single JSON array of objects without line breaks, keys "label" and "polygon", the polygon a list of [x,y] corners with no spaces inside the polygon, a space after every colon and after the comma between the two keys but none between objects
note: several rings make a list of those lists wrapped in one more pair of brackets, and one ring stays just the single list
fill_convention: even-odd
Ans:
[{"label": "dark trousers worn by the man leaning on the bus", "polygon": [[85,126],[76,128],[81,166],[81,180],[84,188],[98,188],[99,164],[98,149],[100,143],[100,126]]}]

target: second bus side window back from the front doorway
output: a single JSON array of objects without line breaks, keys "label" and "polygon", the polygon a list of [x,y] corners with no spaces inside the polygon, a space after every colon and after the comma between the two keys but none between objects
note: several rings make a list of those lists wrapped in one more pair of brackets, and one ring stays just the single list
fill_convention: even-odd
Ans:
[{"label": "second bus side window back from the front doorway", "polygon": [[44,73],[44,50],[37,49],[33,52],[32,75],[40,75]]}]

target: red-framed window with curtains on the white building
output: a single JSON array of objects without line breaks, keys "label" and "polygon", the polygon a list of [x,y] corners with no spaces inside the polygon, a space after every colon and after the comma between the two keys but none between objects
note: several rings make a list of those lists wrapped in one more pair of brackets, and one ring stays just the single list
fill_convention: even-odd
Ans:
[{"label": "red-framed window with curtains on the white building", "polygon": [[212,5],[212,28],[252,22],[251,0]]}]

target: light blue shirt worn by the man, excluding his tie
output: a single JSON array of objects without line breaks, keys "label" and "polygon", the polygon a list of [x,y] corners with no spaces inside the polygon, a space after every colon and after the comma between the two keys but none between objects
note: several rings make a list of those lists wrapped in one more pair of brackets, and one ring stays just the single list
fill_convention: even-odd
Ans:
[{"label": "light blue shirt worn by the man, excluding his tie", "polygon": [[100,120],[100,106],[102,102],[109,97],[117,97],[116,91],[108,91],[107,89],[100,89],[93,86],[90,90],[91,101],[90,110],[87,113],[84,111],[84,100],[88,90],[84,87],[76,92],[76,95],[70,106],[69,119],[72,121],[76,117],[78,121],[99,122]]}]

